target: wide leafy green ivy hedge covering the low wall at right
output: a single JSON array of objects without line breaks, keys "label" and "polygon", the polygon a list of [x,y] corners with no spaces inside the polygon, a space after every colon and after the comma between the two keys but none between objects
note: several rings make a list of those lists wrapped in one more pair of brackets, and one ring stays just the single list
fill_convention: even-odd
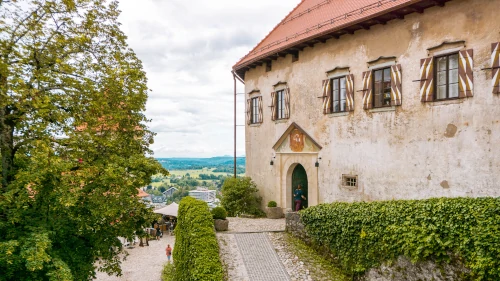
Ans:
[{"label": "wide leafy green ivy hedge covering the low wall at right", "polygon": [[333,203],[301,211],[308,235],[348,274],[385,261],[460,260],[474,280],[500,280],[500,198]]}]

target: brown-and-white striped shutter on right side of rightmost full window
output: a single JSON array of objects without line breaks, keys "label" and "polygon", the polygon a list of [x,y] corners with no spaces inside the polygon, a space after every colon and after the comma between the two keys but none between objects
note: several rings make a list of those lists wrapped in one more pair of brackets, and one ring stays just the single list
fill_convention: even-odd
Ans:
[{"label": "brown-and-white striped shutter on right side of rightmost full window", "polygon": [[474,96],[473,55],[474,51],[472,49],[459,52],[458,83],[460,85],[460,93],[458,97],[461,99]]}]

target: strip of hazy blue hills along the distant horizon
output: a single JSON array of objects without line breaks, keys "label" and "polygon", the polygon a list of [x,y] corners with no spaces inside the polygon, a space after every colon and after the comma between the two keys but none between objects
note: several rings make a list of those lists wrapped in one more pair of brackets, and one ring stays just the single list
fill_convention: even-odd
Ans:
[{"label": "strip of hazy blue hills along the distant horizon", "polygon": [[[214,172],[233,172],[233,157],[220,156],[212,158],[157,158],[167,170],[199,170],[215,168]],[[245,173],[245,157],[236,158],[238,174]]]}]

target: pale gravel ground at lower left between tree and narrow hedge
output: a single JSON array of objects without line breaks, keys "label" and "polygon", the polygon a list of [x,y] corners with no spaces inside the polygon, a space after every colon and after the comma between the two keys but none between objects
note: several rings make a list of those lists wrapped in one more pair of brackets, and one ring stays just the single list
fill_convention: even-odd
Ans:
[{"label": "pale gravel ground at lower left between tree and narrow hedge", "polygon": [[175,236],[163,235],[160,241],[149,241],[149,247],[127,249],[129,256],[122,261],[122,276],[108,276],[97,272],[97,281],[161,281],[163,266],[167,263],[165,248],[167,244],[173,248]]}]

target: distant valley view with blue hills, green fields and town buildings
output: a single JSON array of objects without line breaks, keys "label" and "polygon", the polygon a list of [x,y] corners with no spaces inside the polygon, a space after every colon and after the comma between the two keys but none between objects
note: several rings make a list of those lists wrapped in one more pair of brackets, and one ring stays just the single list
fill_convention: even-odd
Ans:
[{"label": "distant valley view with blue hills, green fields and town buildings", "polygon": [[[172,202],[178,203],[190,195],[218,205],[220,188],[227,177],[234,174],[234,158],[219,156],[211,158],[157,158],[167,169],[169,176],[153,176],[152,183],[144,187],[150,196],[145,198],[152,205],[159,207]],[[236,158],[238,176],[245,175],[245,157]]]}]

